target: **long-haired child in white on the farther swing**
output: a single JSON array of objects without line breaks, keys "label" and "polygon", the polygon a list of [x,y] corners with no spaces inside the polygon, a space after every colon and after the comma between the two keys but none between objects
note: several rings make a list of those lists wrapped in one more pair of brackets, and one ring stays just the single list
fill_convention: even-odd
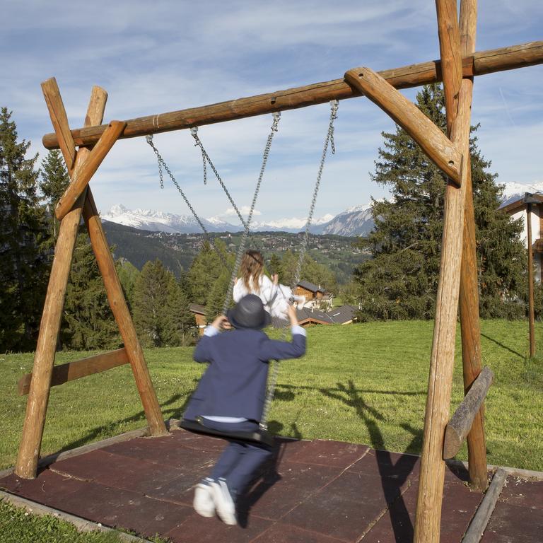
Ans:
[{"label": "long-haired child in white on the farther swing", "polygon": [[288,286],[279,284],[279,276],[269,279],[264,274],[264,258],[259,251],[248,250],[240,265],[240,277],[235,280],[232,297],[238,302],[247,294],[256,294],[272,317],[286,319],[291,300],[298,306],[305,303],[305,296],[296,296]]}]

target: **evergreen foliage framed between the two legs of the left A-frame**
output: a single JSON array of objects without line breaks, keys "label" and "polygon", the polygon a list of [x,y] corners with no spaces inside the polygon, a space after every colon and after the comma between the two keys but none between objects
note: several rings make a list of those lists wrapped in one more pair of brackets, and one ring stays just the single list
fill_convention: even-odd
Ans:
[{"label": "evergreen foliage framed between the two legs of the left A-frame", "polygon": [[122,344],[86,234],[78,235],[74,249],[60,339],[64,349],[76,351],[116,349]]}]

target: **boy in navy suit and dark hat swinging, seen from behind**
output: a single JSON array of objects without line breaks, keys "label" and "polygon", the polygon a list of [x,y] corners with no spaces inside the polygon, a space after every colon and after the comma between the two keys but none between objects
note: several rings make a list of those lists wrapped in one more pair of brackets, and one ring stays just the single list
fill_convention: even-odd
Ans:
[{"label": "boy in navy suit and dark hat swinging, seen from behind", "polygon": [[[305,330],[290,308],[292,340],[269,339],[262,328],[271,317],[254,294],[242,298],[227,315],[216,317],[194,350],[194,360],[209,362],[184,419],[202,421],[221,431],[258,431],[264,409],[269,360],[298,358],[305,353]],[[234,329],[220,334],[221,329]],[[235,500],[257,469],[271,456],[264,443],[228,440],[209,475],[194,493],[194,509],[204,517],[217,513],[226,524],[237,523]]]}]

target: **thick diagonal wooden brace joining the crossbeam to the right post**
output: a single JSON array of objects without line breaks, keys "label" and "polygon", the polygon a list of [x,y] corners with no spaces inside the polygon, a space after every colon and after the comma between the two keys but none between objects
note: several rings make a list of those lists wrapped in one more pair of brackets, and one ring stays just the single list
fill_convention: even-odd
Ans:
[{"label": "thick diagonal wooden brace joining the crossbeam to the right post", "polygon": [[345,73],[345,81],[378,105],[416,141],[445,175],[460,185],[462,154],[443,132],[390,83],[369,68]]}]

